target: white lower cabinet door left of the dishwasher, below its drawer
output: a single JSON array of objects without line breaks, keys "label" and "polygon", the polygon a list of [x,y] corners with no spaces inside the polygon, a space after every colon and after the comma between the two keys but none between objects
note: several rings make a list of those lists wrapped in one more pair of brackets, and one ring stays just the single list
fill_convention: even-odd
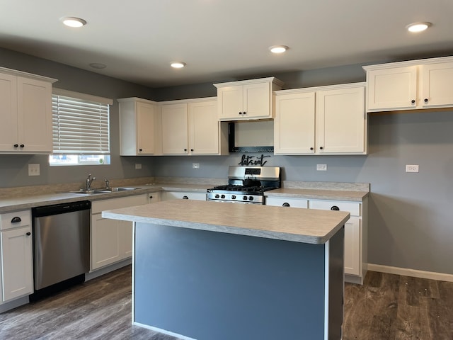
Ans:
[{"label": "white lower cabinet door left of the dishwasher, below its drawer", "polygon": [[33,293],[31,227],[1,232],[3,301]]}]

